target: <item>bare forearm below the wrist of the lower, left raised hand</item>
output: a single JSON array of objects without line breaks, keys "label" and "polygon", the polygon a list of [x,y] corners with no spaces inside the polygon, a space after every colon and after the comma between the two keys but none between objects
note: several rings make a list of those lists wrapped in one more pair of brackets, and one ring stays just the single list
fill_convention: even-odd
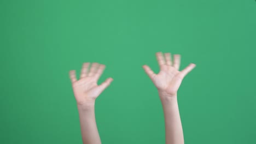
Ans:
[{"label": "bare forearm below the wrist of the lower, left raised hand", "polygon": [[80,128],[84,144],[101,144],[95,119],[94,104],[78,105]]}]

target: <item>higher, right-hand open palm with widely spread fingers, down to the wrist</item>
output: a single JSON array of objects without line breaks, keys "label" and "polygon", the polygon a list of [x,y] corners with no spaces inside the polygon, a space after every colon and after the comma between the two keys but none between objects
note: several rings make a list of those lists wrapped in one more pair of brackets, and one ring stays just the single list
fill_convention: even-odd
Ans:
[{"label": "higher, right-hand open palm with widely spread fingers, down to the wrist", "polygon": [[174,62],[171,60],[171,53],[165,53],[165,58],[162,52],[157,52],[156,57],[160,66],[160,72],[155,74],[148,65],[143,65],[144,70],[158,88],[160,97],[176,97],[177,91],[185,75],[187,75],[195,64],[191,63],[187,68],[179,71],[181,61],[180,55],[174,55]]}]

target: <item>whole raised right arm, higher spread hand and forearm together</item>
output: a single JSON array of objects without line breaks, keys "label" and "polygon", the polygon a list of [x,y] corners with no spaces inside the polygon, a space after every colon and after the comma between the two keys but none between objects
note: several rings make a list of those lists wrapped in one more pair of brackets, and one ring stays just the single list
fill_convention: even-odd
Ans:
[{"label": "whole raised right arm, higher spread hand and forearm together", "polygon": [[180,55],[174,55],[171,60],[171,53],[157,52],[156,57],[160,67],[160,72],[155,74],[148,65],[143,65],[144,70],[158,89],[165,117],[165,140],[166,144],[183,144],[183,130],[181,118],[179,116],[177,91],[185,75],[189,73],[195,64],[191,63],[179,71]]}]

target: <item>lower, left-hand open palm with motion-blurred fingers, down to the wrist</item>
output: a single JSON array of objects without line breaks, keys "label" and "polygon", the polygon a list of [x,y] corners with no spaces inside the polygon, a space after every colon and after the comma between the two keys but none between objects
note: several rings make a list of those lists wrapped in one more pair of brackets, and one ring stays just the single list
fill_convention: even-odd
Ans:
[{"label": "lower, left-hand open palm with motion-blurred fingers, down to the wrist", "polygon": [[100,78],[105,65],[92,63],[90,70],[88,70],[89,65],[90,63],[83,64],[79,80],[77,80],[75,76],[75,70],[69,71],[74,96],[78,105],[94,104],[98,95],[100,95],[101,92],[113,81],[112,78],[108,78],[98,86],[97,81]]}]

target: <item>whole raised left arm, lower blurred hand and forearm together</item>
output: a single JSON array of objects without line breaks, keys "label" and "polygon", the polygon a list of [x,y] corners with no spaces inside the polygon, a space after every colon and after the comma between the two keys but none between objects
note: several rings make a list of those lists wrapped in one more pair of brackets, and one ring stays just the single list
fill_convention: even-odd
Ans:
[{"label": "whole raised left arm, lower blurred hand and forearm together", "polygon": [[101,144],[100,135],[95,121],[95,100],[101,92],[107,88],[112,82],[112,78],[108,78],[101,85],[97,85],[105,65],[92,63],[84,63],[81,71],[80,79],[77,80],[75,70],[69,71],[72,81],[72,87],[80,119],[80,128],[84,144]]}]

